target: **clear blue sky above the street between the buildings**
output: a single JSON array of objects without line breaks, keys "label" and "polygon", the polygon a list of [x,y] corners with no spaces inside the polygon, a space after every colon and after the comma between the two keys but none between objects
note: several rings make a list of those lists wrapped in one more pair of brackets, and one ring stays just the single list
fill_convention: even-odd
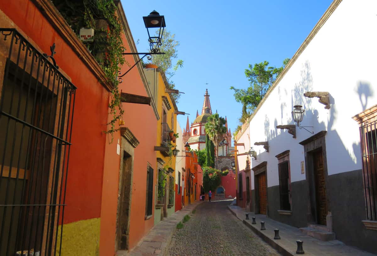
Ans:
[{"label": "clear blue sky above the street between the buildings", "polygon": [[[227,116],[233,133],[242,105],[230,86],[247,88],[245,69],[261,61],[282,66],[291,58],[332,0],[269,1],[125,1],[124,12],[139,52],[149,49],[143,16],[154,9],[165,16],[166,29],[180,42],[178,59],[184,61],[172,81],[183,91],[178,110],[201,112],[208,88],[212,111]],[[175,61],[173,61],[175,63]],[[206,85],[208,83],[208,85]],[[178,115],[183,129],[187,115]],[[233,144],[233,140],[232,140]]]}]

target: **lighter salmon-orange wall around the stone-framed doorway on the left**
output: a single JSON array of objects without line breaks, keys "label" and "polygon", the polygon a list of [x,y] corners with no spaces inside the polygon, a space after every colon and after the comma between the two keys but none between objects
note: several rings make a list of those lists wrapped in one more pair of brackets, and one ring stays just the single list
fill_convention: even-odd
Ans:
[{"label": "lighter salmon-orange wall around the stone-framed doorway on the left", "polygon": [[[123,35],[126,49],[130,49],[126,37]],[[126,61],[135,63],[133,56],[126,55]],[[129,69],[126,64],[122,67],[123,74]],[[126,93],[148,96],[137,67],[134,67],[123,77],[119,89]],[[157,119],[151,106],[144,104],[123,103],[123,127],[129,128],[139,145],[134,149],[132,199],[130,213],[129,248],[135,247],[152,227],[153,218],[144,219],[146,209],[147,163],[156,170],[156,129]],[[111,120],[109,115],[108,120]],[[108,256],[115,253],[116,211],[118,207],[118,184],[120,172],[120,155],[116,154],[120,132],[114,134],[114,142],[109,144],[111,136],[107,136],[105,166],[103,174],[103,197],[101,210],[100,255]],[[154,175],[154,180],[156,177]],[[152,214],[154,207],[152,208]]]}]

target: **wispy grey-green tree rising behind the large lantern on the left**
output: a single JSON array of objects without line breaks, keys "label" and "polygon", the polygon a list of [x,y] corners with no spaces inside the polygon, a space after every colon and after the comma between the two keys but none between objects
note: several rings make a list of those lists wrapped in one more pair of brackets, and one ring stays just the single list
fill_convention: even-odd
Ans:
[{"label": "wispy grey-green tree rising behind the large lantern on the left", "polygon": [[[156,35],[158,35],[158,31],[156,31]],[[179,67],[183,67],[182,59],[178,59],[174,66],[172,63],[173,60],[178,58],[177,47],[179,46],[179,41],[175,40],[175,34],[171,34],[170,31],[164,30],[161,43],[160,52],[164,52],[165,54],[153,55],[152,63],[166,73],[166,79],[170,89],[175,89],[175,83],[172,81],[172,76],[175,75],[175,72]],[[172,96],[175,102],[178,103],[181,93],[173,93]]]}]

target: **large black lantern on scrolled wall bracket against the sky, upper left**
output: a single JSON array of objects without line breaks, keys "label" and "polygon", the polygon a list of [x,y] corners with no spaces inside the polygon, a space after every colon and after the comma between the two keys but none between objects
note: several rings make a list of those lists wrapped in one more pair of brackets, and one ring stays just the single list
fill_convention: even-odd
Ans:
[{"label": "large black lantern on scrolled wall bracket against the sky, upper left", "polygon": [[[123,82],[122,77],[126,75],[128,72],[133,69],[145,56],[147,56],[148,60],[152,59],[152,55],[160,55],[165,54],[164,52],[160,52],[160,46],[162,45],[162,35],[164,34],[164,29],[166,27],[165,24],[165,17],[160,15],[158,12],[153,10],[148,16],[143,17],[145,27],[147,28],[148,32],[148,42],[150,47],[150,52],[124,52],[123,55],[141,55],[144,54],[129,70],[126,71],[123,75],[121,72],[118,72],[118,80],[119,83]],[[156,28],[159,29],[158,36],[151,36],[149,29]]]}]

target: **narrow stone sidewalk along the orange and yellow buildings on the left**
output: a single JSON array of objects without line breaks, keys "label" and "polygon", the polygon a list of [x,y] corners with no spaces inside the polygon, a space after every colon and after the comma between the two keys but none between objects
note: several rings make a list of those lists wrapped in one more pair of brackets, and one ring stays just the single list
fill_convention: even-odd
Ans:
[{"label": "narrow stone sidewalk along the orange and yellow buildings on the left", "polygon": [[166,256],[172,236],[176,232],[178,222],[190,214],[202,202],[196,201],[179,210],[163,221],[158,222],[138,243],[138,245],[127,251],[118,251],[118,256]]}]

